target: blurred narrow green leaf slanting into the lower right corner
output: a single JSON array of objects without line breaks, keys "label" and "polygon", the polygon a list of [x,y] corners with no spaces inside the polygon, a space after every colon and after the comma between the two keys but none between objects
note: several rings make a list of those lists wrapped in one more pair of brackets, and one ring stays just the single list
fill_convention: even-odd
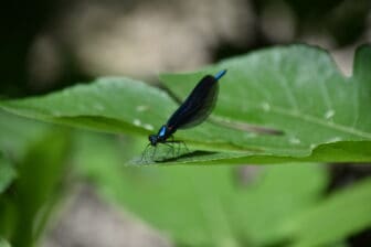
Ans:
[{"label": "blurred narrow green leaf slanting into the lower right corner", "polygon": [[287,223],[293,246],[326,246],[371,226],[371,179],[333,193]]}]

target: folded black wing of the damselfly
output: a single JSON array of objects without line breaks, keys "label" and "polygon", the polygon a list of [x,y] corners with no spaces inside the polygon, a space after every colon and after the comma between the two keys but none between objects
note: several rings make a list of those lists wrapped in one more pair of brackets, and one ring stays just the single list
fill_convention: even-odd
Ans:
[{"label": "folded black wing of the damselfly", "polygon": [[219,83],[211,76],[204,76],[193,88],[186,101],[168,120],[172,129],[186,129],[204,121],[213,110],[219,93]]}]

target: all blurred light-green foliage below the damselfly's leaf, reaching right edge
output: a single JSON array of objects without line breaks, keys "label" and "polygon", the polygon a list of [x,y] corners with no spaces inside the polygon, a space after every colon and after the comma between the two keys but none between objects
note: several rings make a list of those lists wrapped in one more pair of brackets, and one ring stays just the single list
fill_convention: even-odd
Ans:
[{"label": "all blurred light-green foliage below the damselfly's leaf, reaching right edge", "polygon": [[142,140],[76,141],[77,173],[176,246],[347,246],[371,225],[371,180],[328,195],[324,165],[125,167]]}]

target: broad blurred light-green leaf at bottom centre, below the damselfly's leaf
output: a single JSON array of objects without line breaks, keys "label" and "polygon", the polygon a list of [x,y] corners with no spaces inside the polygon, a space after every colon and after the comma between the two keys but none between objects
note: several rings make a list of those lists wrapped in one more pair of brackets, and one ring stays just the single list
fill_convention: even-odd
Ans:
[{"label": "broad blurred light-green leaf at bottom centre, below the damselfly's leaf", "polygon": [[322,182],[320,171],[306,168],[267,167],[265,178],[246,189],[227,167],[134,170],[123,182],[105,182],[114,200],[176,243],[264,246],[279,241],[282,222],[316,201],[324,183],[309,176]]}]

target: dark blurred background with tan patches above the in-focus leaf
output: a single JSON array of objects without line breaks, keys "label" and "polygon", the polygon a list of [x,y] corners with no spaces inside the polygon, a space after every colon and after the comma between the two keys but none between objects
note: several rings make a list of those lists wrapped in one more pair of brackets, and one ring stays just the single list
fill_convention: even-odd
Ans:
[{"label": "dark blurred background with tan patches above the in-focus leaf", "polygon": [[[4,1],[0,10],[0,94],[2,97],[43,94],[109,74],[155,80],[159,72],[192,69],[232,55],[293,42],[352,52],[357,44],[370,40],[370,4],[368,0],[234,0],[212,4],[165,0]],[[200,11],[193,13],[193,10]],[[220,19],[226,20],[222,22],[224,26],[216,25]],[[144,28],[144,32],[152,28],[168,34],[149,31],[132,34],[131,29],[125,29],[130,24],[132,29]],[[179,44],[187,56],[180,52],[179,56],[172,54],[174,57],[167,58],[158,49],[167,44]],[[107,58],[107,53],[117,57]],[[123,60],[126,62],[119,62]],[[130,62],[137,68],[132,69]],[[151,71],[151,66],[157,71]]]}]

